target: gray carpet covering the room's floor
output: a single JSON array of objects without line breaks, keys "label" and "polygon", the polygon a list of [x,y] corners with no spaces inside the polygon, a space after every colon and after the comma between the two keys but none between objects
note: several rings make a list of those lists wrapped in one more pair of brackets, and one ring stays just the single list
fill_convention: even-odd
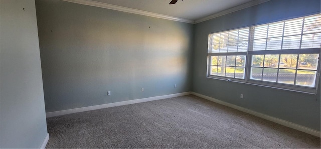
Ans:
[{"label": "gray carpet covering the room's floor", "polygon": [[320,138],[194,95],[47,118],[47,148],[320,148]]}]

